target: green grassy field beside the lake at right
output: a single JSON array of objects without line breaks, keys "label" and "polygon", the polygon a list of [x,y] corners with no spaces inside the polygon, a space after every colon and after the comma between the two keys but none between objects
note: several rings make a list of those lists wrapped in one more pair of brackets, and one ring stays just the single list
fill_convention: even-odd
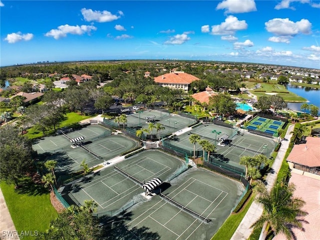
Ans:
[{"label": "green grassy field beside the lake at right", "polygon": [[[247,88],[253,88],[257,83],[256,82],[243,82]],[[260,83],[261,88],[255,90],[249,90],[253,95],[265,96],[266,93],[276,93],[277,96],[281,96],[285,102],[306,102],[305,98],[302,98],[295,93],[292,93],[285,89],[285,86],[271,83]],[[268,95],[267,95],[268,96]]]}]

